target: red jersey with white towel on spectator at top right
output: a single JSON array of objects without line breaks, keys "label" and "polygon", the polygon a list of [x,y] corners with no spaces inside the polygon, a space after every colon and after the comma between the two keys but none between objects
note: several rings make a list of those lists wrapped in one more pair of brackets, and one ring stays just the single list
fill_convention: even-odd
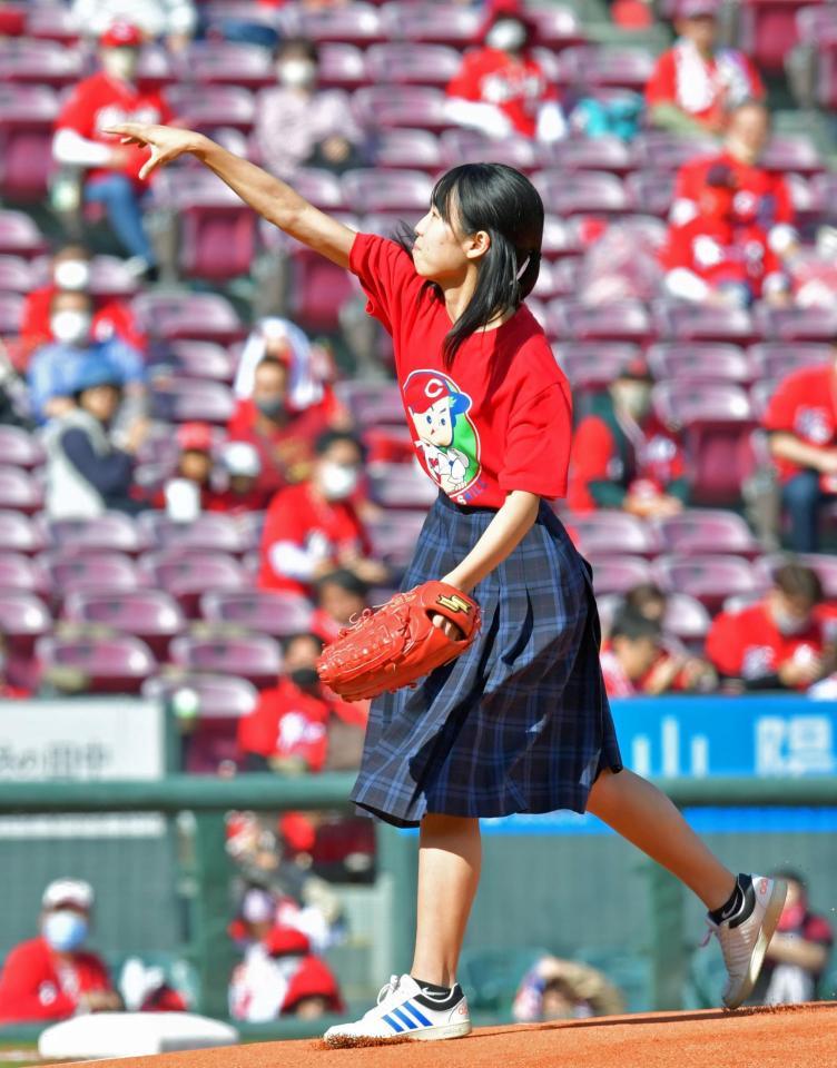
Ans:
[{"label": "red jersey with white towel on spectator at top right", "polygon": [[761,78],[744,52],[723,48],[706,59],[686,40],[659,57],[646,86],[649,108],[671,103],[708,127],[722,122],[730,107],[764,96]]}]

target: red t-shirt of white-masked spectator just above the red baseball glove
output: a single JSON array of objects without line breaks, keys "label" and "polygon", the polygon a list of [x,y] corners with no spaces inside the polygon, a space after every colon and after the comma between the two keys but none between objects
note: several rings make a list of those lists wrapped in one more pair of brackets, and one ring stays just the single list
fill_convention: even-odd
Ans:
[{"label": "red t-shirt of white-masked spectator just above the red baseball glove", "polygon": [[326,501],[312,492],[309,482],[287,486],[273,498],[262,534],[262,566],[258,584],[263,590],[287,590],[307,594],[307,585],[274,570],[270,547],[291,542],[301,548],[316,546],[324,558],[336,566],[342,554],[368,556],[366,531],[351,501]]}]

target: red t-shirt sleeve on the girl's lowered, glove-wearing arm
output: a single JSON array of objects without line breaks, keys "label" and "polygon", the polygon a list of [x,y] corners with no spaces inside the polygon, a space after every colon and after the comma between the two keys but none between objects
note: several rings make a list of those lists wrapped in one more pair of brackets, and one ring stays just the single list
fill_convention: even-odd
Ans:
[{"label": "red t-shirt sleeve on the girl's lowered, glove-wearing arm", "polygon": [[572,406],[560,383],[522,404],[509,425],[505,464],[498,478],[501,488],[565,496],[571,426]]}]

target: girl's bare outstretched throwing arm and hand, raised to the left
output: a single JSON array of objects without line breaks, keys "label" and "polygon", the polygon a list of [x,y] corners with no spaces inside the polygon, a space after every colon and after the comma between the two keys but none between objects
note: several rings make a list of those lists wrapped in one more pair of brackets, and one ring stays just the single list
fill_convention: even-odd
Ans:
[{"label": "girl's bare outstretched throwing arm and hand, raised to the left", "polygon": [[268,222],[339,267],[348,267],[348,254],[355,238],[353,230],[308,204],[284,181],[234,156],[203,134],[141,122],[112,126],[106,132],[121,137],[126,145],[141,145],[151,150],[140,178],[147,178],[156,167],[169,164],[178,156],[190,154]]}]

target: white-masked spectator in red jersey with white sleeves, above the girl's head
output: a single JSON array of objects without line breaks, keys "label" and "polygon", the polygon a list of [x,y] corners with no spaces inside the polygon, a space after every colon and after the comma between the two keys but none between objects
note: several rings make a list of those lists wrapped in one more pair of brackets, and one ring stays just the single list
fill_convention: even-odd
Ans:
[{"label": "white-masked spectator in red jersey with white sleeves, above the girl's head", "polygon": [[535,32],[518,0],[493,0],[482,47],[465,53],[447,86],[453,122],[489,137],[518,134],[549,144],[567,136],[558,89],[531,51]]}]

